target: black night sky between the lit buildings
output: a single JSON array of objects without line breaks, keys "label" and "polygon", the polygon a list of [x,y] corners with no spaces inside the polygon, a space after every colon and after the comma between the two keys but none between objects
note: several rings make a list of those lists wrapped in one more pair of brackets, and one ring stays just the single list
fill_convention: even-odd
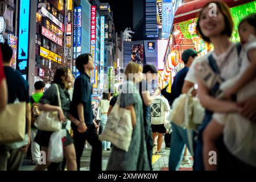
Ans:
[{"label": "black night sky between the lit buildings", "polygon": [[133,28],[133,0],[100,0],[108,2],[113,11],[116,32],[124,31],[126,27]]}]

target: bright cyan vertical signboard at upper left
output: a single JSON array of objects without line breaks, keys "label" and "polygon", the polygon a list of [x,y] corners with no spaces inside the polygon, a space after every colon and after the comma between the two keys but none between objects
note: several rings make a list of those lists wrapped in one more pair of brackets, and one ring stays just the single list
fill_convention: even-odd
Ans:
[{"label": "bright cyan vertical signboard at upper left", "polygon": [[28,65],[28,40],[30,27],[30,0],[20,0],[19,4],[19,41],[17,69],[23,77],[27,75]]}]

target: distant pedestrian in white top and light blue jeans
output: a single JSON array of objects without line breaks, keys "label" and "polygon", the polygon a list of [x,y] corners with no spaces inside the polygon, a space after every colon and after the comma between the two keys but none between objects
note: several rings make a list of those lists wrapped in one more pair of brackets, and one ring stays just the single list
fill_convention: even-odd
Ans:
[{"label": "distant pedestrian in white top and light blue jeans", "polygon": [[[98,107],[101,109],[101,121],[100,121],[100,134],[104,131],[106,122],[108,121],[108,110],[110,102],[110,93],[103,93],[102,100],[100,100]],[[102,149],[104,151],[110,150],[110,142],[102,141]]]}]

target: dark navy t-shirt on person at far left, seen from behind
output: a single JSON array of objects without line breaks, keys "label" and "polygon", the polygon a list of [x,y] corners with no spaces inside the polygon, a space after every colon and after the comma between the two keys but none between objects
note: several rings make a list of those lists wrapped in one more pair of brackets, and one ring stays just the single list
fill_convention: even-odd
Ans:
[{"label": "dark navy t-shirt on person at far left, seen from behind", "polygon": [[30,102],[28,83],[19,71],[11,67],[4,67],[7,88],[8,88],[8,103],[12,104],[18,98],[19,102]]}]

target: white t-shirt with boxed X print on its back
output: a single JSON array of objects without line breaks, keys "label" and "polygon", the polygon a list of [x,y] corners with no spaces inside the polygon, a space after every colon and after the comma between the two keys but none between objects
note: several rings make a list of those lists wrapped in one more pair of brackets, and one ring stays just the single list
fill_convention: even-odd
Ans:
[{"label": "white t-shirt with boxed X print on its back", "polygon": [[151,124],[163,125],[166,120],[166,112],[170,111],[168,100],[162,96],[156,96],[150,105]]}]

